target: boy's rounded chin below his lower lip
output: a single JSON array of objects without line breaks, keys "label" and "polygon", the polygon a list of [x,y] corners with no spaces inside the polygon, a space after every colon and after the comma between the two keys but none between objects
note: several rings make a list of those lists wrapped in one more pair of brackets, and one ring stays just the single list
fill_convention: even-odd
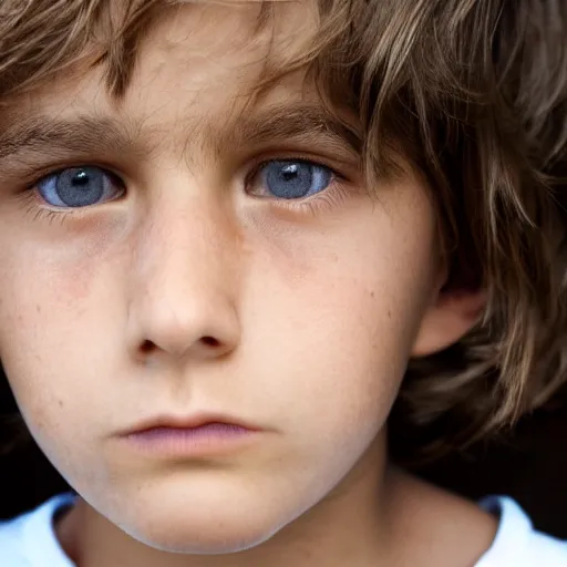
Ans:
[{"label": "boy's rounded chin below his lower lip", "polygon": [[105,491],[91,506],[148,547],[192,555],[233,554],[261,545],[315,504],[313,494],[297,485],[285,491],[272,480],[212,474],[169,476],[135,488],[122,486],[109,499]]}]

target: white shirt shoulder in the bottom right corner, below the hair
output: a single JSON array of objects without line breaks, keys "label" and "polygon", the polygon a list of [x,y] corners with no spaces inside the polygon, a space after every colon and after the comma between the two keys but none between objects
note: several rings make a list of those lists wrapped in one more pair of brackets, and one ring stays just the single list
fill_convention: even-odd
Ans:
[{"label": "white shirt shoulder in the bottom right corner, below the hair", "polygon": [[534,529],[534,526],[512,498],[492,496],[482,506],[499,517],[493,545],[476,567],[566,567],[567,542]]}]

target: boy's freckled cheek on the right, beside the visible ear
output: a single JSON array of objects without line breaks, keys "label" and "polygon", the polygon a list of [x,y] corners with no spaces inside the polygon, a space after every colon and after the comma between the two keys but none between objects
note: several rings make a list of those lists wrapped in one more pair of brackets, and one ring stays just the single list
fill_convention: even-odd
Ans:
[{"label": "boy's freckled cheek on the right, beside the visible ear", "polygon": [[323,440],[363,449],[353,436],[370,441],[395,399],[435,279],[433,214],[419,199],[255,246],[245,347],[269,369],[265,403],[315,454]]}]

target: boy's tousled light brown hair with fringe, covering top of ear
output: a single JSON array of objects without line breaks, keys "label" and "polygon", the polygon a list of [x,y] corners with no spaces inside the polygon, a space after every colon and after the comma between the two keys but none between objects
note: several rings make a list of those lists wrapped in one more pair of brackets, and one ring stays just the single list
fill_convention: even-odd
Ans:
[{"label": "boy's tousled light brown hair with fringe, covering top of ear", "polygon": [[[124,96],[164,3],[3,0],[0,109],[80,62]],[[280,7],[254,6],[260,33]],[[391,437],[466,446],[566,379],[567,2],[319,0],[318,14],[301,52],[267,55],[259,91],[308,70],[331,111],[358,117],[369,186],[399,173],[395,156],[426,179],[446,287],[483,290],[486,308],[457,344],[409,362]]]}]

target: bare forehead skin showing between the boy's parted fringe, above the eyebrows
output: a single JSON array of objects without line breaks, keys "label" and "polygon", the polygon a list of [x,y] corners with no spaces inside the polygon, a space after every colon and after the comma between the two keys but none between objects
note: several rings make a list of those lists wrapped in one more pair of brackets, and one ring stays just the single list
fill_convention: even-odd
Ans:
[{"label": "bare forehead skin showing between the boy's parted fringe, above the eyebrows", "polygon": [[[243,105],[270,65],[285,68],[312,38],[310,2],[279,2],[271,23],[259,24],[259,3],[179,6],[165,11],[140,49],[126,104],[138,90],[164,89],[188,103]],[[302,73],[280,81],[279,90],[302,89]],[[278,91],[278,89],[275,89]],[[277,95],[274,93],[272,95]],[[240,101],[237,99],[241,97]]]}]

